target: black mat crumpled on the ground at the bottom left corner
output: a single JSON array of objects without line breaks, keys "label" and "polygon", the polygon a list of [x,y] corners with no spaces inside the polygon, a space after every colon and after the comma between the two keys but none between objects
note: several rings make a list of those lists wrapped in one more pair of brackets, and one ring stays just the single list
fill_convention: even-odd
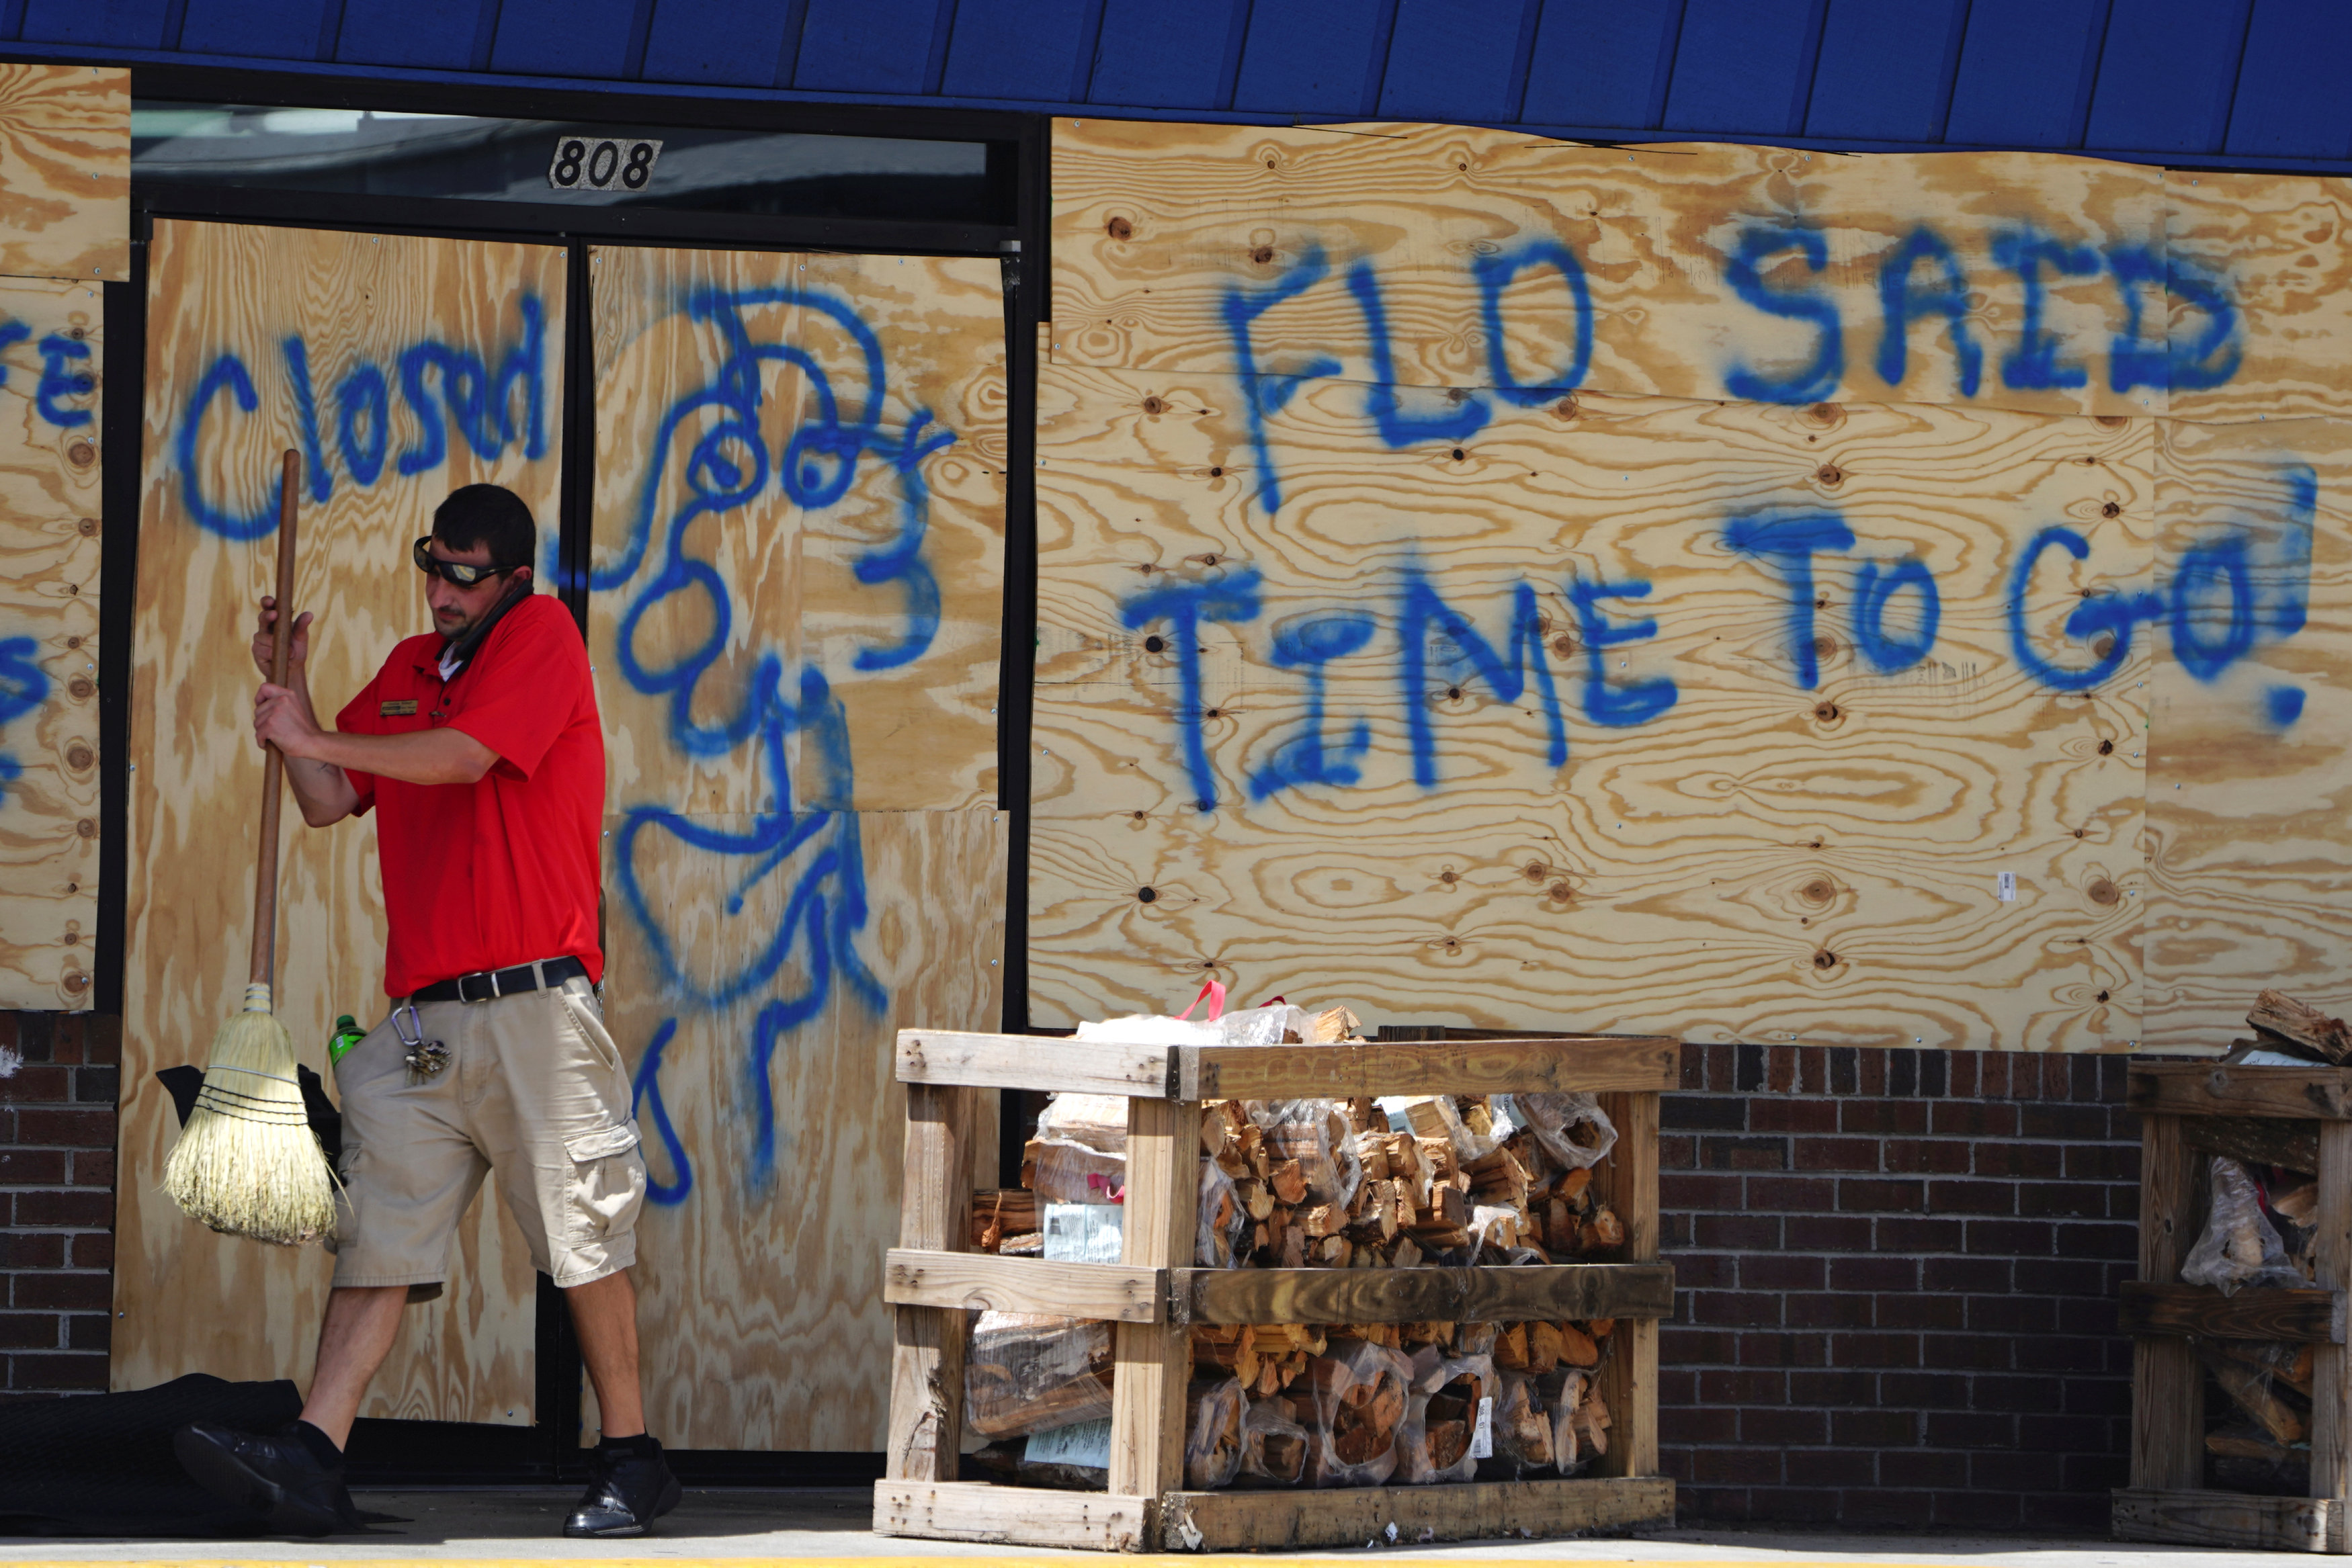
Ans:
[{"label": "black mat crumpled on the ground at the bottom left corner", "polygon": [[296,1415],[292,1382],[205,1373],[136,1394],[0,1406],[0,1533],[254,1535],[247,1509],[188,1479],[172,1434],[195,1420],[270,1432]]}]

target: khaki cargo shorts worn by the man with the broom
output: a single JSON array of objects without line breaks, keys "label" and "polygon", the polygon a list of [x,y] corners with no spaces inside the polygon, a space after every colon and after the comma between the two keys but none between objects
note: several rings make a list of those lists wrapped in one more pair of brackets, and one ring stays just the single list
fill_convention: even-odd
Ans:
[{"label": "khaki cargo shorts worn by the man with the broom", "polygon": [[482,1178],[557,1286],[637,1260],[644,1157],[628,1067],[588,980],[496,997],[426,1001],[423,1037],[449,1046],[428,1079],[386,1018],[334,1067],[343,1100],[336,1286],[409,1286],[433,1300],[449,1244]]}]

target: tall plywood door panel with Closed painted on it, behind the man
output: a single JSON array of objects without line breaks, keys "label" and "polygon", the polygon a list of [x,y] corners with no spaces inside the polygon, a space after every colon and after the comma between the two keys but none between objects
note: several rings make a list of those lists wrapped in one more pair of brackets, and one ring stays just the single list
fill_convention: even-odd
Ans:
[{"label": "tall plywood door panel with Closed painted on it, behind the man", "polygon": [[[165,1199],[176,1121],[153,1079],[205,1060],[245,983],[261,790],[247,639],[273,581],[278,454],[313,454],[296,604],[318,611],[325,712],[430,628],[409,541],[442,496],[508,484],[553,559],[562,463],[562,249],[165,221],[148,277],[118,1389],[193,1371],[308,1378],[327,1293],[325,1253],[216,1237]],[[452,383],[473,376],[506,397],[452,416]],[[278,1016],[310,1067],[327,1067],[336,1013],[381,1018],[372,816],[287,830],[278,976]],[[409,1312],[362,1415],[529,1422],[534,1312],[522,1239],[475,1204],[449,1293]]]}]

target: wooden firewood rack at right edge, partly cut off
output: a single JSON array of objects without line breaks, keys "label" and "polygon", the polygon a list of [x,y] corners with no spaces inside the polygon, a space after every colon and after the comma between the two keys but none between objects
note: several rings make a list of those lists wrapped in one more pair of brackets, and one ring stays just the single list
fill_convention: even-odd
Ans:
[{"label": "wooden firewood rack at right edge, partly cut off", "polygon": [[[2119,1326],[2131,1345],[2131,1486],[2114,1493],[2117,1540],[2204,1547],[2347,1552],[2352,1382],[2345,1300],[2352,1293],[2352,1070],[2216,1067],[2131,1070],[2140,1112],[2140,1279],[2124,1286]],[[2310,1135],[2319,1178],[2319,1288],[2246,1288],[2223,1295],[2180,1284],[2197,1241],[2197,1161],[2241,1143],[2230,1121],[2260,1117]],[[2244,1121],[2237,1121],[2244,1128]],[[2300,1168],[2300,1166],[2298,1166]],[[2312,1354],[2312,1495],[2263,1497],[2204,1488],[2204,1371],[2194,1338],[2293,1340]]]}]

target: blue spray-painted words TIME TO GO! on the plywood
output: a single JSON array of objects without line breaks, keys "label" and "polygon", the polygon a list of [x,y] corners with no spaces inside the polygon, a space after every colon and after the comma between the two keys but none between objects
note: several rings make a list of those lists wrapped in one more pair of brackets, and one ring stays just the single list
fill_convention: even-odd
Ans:
[{"label": "blue spray-painted words TIME TO GO! on the plywood", "polygon": [[[2067,590],[2072,609],[2060,628],[2074,644],[2089,644],[2091,663],[2037,642],[2032,614],[2037,583],[2051,571],[2051,552],[2077,562],[2091,559],[2091,541],[2065,524],[2037,529],[2004,581],[2002,616],[2011,654],[2025,675],[2046,691],[2091,691],[2114,679],[2131,658],[2133,637],[2143,625],[2166,625],[2173,656],[2199,682],[2218,682],[2227,670],[2249,663],[2267,642],[2284,642],[2303,630],[2310,614],[2312,536],[2319,510],[2319,482],[2310,465],[2281,470],[2284,498],[2274,517],[2237,520],[2211,529],[2180,552],[2159,588],[2082,588]],[[1783,637],[1788,672],[1799,691],[1820,686],[1818,611],[1825,604],[1818,585],[1828,569],[1823,557],[1858,552],[1865,541],[1832,510],[1733,515],[1722,524],[1722,543],[1773,571],[1783,583]],[[1573,642],[1583,646],[1578,708],[1599,729],[1632,729],[1670,712],[1682,691],[1670,675],[1630,672],[1621,656],[1611,670],[1609,656],[1628,644],[1658,637],[1656,618],[1611,618],[1611,599],[1649,599],[1653,583],[1566,578],[1557,590],[1576,621]],[[2051,592],[2044,588],[2044,592]],[[1200,628],[1232,623],[1247,628],[1268,607],[1268,590],[1254,567],[1240,567],[1216,583],[1164,583],[1122,604],[1129,630],[1167,623],[1176,637],[1181,693],[1171,708],[1176,745],[1183,757],[1185,785],[1202,811],[1218,799],[1218,778],[1202,736],[1204,696],[1200,672]],[[1268,802],[1284,790],[1305,785],[1355,788],[1378,785],[1371,778],[1378,762],[1371,745],[1371,719],[1357,715],[1345,741],[1327,736],[1327,682],[1343,658],[1378,658],[1395,672],[1395,710],[1404,717],[1406,752],[1414,785],[1442,788],[1437,766],[1437,719],[1444,703],[1465,696],[1472,682],[1503,703],[1529,703],[1545,729],[1545,764],[1559,769],[1569,759],[1566,710],[1559,698],[1548,654],[1569,656],[1571,642],[1550,642],[1552,623],[1541,611],[1541,592],[1519,581],[1510,588],[1508,632],[1489,642],[1458,604],[1439,595],[1421,569],[1406,567],[1395,585],[1395,642],[1383,637],[1383,621],[1362,609],[1301,609],[1272,623],[1272,649],[1265,656],[1275,670],[1298,670],[1305,682],[1305,726],[1279,741],[1272,757],[1249,773],[1247,802]],[[1926,559],[1853,562],[1853,602],[1846,630],[1863,663],[1875,675],[1898,675],[1929,658],[1943,625],[1943,595]],[[1237,630],[1235,635],[1247,635]],[[1446,675],[1432,675],[1432,663]],[[2293,684],[2265,684],[2258,712],[2272,729],[2288,729],[2303,715],[2305,693]]]}]

